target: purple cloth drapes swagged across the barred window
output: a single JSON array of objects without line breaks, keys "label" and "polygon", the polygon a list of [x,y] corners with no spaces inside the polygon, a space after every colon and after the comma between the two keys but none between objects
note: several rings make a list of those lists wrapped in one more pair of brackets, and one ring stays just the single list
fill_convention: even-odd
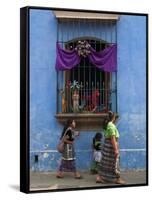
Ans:
[{"label": "purple cloth drapes swagged across the barred window", "polygon": [[[103,51],[96,52],[92,47],[88,58],[98,69],[105,72],[117,70],[117,46],[113,44]],[[57,43],[56,70],[70,70],[80,63],[81,57],[75,49],[64,50]]]}]

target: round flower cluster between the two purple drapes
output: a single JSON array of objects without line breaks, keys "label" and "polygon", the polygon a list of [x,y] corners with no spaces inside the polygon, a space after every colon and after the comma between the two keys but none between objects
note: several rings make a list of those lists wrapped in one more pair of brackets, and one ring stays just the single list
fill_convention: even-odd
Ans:
[{"label": "round flower cluster between the two purple drapes", "polygon": [[90,54],[91,45],[87,41],[78,41],[78,45],[75,47],[79,56],[87,57]]}]

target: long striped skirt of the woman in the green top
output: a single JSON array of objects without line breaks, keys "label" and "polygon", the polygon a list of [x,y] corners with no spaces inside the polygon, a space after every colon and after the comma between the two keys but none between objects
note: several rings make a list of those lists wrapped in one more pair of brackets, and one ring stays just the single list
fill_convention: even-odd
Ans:
[{"label": "long striped skirt of the woman in the green top", "polygon": [[105,139],[102,151],[102,159],[98,166],[98,173],[104,180],[114,181],[120,178],[119,157],[115,157],[110,139]]}]

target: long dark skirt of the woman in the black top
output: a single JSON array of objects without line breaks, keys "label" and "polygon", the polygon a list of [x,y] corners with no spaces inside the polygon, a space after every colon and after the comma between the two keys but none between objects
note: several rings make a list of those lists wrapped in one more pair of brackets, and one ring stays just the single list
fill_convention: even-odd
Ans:
[{"label": "long dark skirt of the woman in the black top", "polygon": [[61,164],[59,166],[61,172],[76,172],[75,151],[72,144],[64,145]]}]

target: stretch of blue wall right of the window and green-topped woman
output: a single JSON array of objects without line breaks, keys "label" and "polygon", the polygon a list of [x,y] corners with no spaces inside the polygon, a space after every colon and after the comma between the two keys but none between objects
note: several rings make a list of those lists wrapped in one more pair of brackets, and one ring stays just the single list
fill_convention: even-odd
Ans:
[{"label": "stretch of blue wall right of the window and green-topped woman", "polygon": [[118,22],[118,113],[122,167],[145,168],[146,18],[121,16]]}]

